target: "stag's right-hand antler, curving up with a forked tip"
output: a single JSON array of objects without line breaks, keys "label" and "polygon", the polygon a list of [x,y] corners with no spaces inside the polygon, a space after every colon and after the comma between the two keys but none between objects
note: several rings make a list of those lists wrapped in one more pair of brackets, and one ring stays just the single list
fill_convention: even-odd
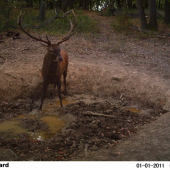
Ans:
[{"label": "stag's right-hand antler, curving up with a forked tip", "polygon": [[[66,16],[67,14],[70,14],[71,12],[73,13],[73,16],[74,16],[74,24],[73,24],[72,21],[69,20],[69,19],[67,18],[67,16]],[[57,45],[61,44],[61,43],[64,42],[64,41],[69,40],[70,37],[75,33],[74,30],[75,30],[75,28],[76,28],[76,26],[77,26],[77,20],[76,20],[76,16],[75,16],[73,10],[65,13],[65,14],[63,15],[63,18],[66,18],[66,19],[67,19],[67,21],[69,22],[69,24],[71,25],[71,27],[70,27],[70,31],[68,32],[68,34],[67,34],[65,37],[63,37],[62,39],[60,39],[60,40],[57,42]],[[74,31],[74,32],[73,32],[73,31]]]}]

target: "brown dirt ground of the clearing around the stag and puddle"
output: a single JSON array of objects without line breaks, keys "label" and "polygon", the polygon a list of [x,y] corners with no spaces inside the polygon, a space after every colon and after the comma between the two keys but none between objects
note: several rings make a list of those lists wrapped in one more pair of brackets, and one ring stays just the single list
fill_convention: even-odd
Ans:
[{"label": "brown dirt ground of the clearing around the stag and puddle", "polygon": [[68,95],[62,98],[71,101],[63,108],[56,105],[57,94],[50,99],[50,86],[38,111],[46,49],[23,33],[15,40],[3,35],[0,122],[35,115],[21,120],[33,132],[48,129],[40,117],[56,115],[66,125],[46,140],[0,134],[0,160],[170,160],[169,37],[126,36],[115,33],[108,18],[97,19],[100,33],[75,34],[61,45],[69,54]]}]

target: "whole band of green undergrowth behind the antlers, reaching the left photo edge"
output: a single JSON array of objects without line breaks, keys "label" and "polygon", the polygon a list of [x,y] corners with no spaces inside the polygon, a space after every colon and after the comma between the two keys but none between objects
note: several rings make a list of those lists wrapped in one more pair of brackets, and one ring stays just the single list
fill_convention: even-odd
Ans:
[{"label": "whole band of green undergrowth behind the antlers, reaching the left photo edge", "polygon": [[[76,19],[77,19],[77,27],[76,32],[79,33],[97,33],[99,32],[99,27],[97,26],[97,21],[95,19],[90,18],[88,15],[84,15],[82,10],[74,10]],[[8,26],[6,29],[10,28],[19,28],[17,25],[17,18],[20,13],[19,9],[12,10],[10,13]],[[39,32],[39,33],[48,33],[54,35],[65,34],[70,29],[70,24],[66,20],[66,18],[62,18],[63,13],[59,13],[59,17],[55,19],[50,24],[45,24],[45,22],[41,22],[38,19],[39,10],[38,9],[25,9],[23,27],[26,30],[31,32]],[[52,19],[55,16],[54,10],[46,10],[46,21]],[[72,14],[67,15],[69,19],[74,22],[74,17]],[[5,26],[5,17],[0,15],[0,29],[2,30]]]}]

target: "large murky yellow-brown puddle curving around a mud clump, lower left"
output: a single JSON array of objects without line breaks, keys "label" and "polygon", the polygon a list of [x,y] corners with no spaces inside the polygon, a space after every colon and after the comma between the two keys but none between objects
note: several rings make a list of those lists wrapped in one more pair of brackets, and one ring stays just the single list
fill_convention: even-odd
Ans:
[{"label": "large murky yellow-brown puddle curving around a mud clump, lower left", "polygon": [[48,125],[48,130],[33,133],[20,126],[20,119],[35,119],[35,116],[18,115],[16,118],[2,122],[0,124],[0,136],[5,139],[15,139],[19,138],[16,136],[18,134],[28,134],[29,139],[45,140],[54,137],[65,125],[65,122],[56,116],[44,116],[40,120]]}]

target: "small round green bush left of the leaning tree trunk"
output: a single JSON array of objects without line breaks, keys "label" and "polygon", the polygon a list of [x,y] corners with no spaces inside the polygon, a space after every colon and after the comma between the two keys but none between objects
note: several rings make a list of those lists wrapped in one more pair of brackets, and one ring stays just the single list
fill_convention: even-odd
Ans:
[{"label": "small round green bush left of the leaning tree trunk", "polygon": [[111,26],[116,32],[129,31],[131,25],[132,25],[131,18],[130,16],[127,15],[126,12],[123,12],[120,15],[116,16],[116,20],[114,21],[114,23],[111,24]]}]

